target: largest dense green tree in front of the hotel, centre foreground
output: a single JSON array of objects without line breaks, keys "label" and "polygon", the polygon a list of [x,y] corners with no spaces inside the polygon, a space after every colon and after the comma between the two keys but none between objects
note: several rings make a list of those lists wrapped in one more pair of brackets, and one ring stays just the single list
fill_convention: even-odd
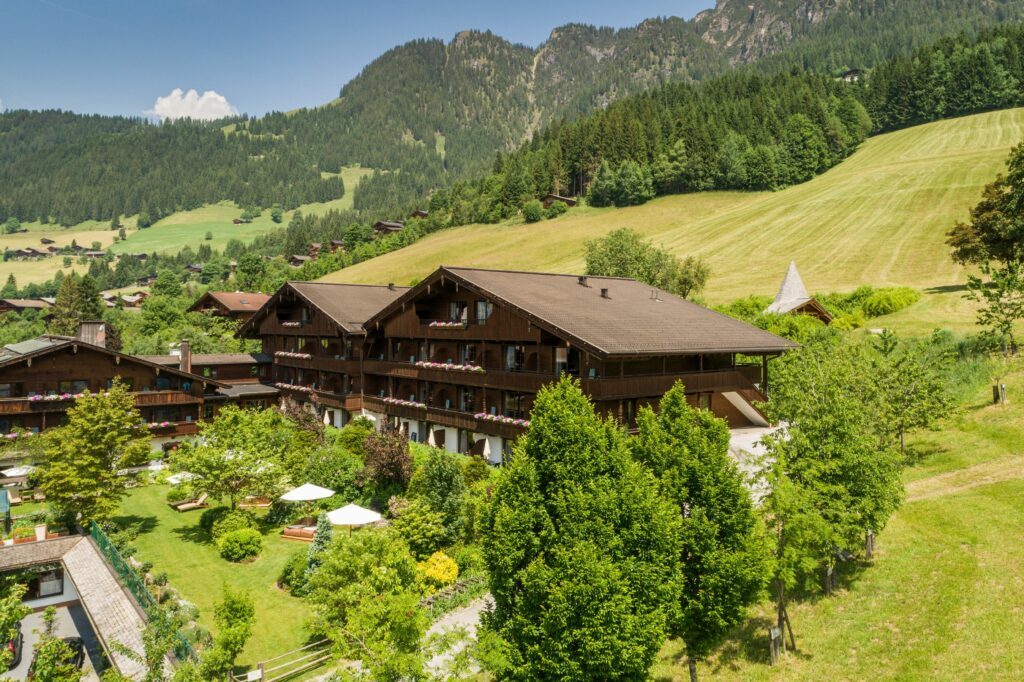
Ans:
[{"label": "largest dense green tree in front of the hotel, centre foreground", "polygon": [[578,383],[538,393],[483,522],[511,679],[645,679],[675,609],[679,513]]}]

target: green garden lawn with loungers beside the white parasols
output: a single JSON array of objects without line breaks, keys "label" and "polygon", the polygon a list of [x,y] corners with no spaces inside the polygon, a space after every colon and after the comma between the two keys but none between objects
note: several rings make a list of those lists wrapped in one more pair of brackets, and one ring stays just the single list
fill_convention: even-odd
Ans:
[{"label": "green garden lawn with loungers beside the white parasols", "polygon": [[175,512],[165,502],[167,491],[166,485],[132,489],[121,507],[118,521],[143,524],[143,532],[134,543],[138,548],[135,557],[152,561],[155,571],[166,570],[170,586],[199,607],[200,623],[209,629],[213,628],[213,604],[223,585],[252,595],[256,625],[239,665],[253,665],[305,644],[306,604],[279,590],[276,580],[288,559],[308,546],[271,534],[256,561],[230,563],[220,558],[199,531],[202,512]]}]

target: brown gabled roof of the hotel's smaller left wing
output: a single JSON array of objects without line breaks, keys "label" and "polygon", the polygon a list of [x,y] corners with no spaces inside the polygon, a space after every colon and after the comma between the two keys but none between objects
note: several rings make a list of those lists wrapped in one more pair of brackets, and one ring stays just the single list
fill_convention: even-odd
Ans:
[{"label": "brown gabled roof of the hotel's smaller left wing", "polygon": [[375,285],[289,282],[263,304],[256,314],[239,329],[238,336],[256,329],[259,321],[276,305],[286,290],[294,291],[307,303],[323,311],[349,334],[361,334],[366,321],[409,291],[408,287]]}]

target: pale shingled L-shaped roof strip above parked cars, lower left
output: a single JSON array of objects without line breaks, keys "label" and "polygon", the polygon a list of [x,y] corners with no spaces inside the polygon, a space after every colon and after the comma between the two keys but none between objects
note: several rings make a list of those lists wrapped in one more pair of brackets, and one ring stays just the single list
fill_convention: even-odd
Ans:
[{"label": "pale shingled L-shaped roof strip above parked cars, lower left", "polygon": [[65,577],[75,584],[82,606],[111,663],[122,675],[141,679],[145,666],[118,651],[114,642],[141,655],[145,617],[135,600],[118,583],[91,538],[75,536],[0,549],[0,570],[53,561],[63,563]]}]

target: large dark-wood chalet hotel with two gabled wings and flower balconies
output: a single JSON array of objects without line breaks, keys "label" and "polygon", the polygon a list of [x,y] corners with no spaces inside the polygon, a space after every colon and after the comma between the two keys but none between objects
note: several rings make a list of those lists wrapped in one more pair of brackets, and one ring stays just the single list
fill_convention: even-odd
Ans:
[{"label": "large dark-wood chalet hotel with two gabled wings and flower balconies", "polygon": [[730,425],[763,425],[768,359],[795,347],[632,280],[444,266],[412,289],[287,284],[240,335],[325,422],[364,415],[496,463],[563,373],[628,426],[676,381]]}]

